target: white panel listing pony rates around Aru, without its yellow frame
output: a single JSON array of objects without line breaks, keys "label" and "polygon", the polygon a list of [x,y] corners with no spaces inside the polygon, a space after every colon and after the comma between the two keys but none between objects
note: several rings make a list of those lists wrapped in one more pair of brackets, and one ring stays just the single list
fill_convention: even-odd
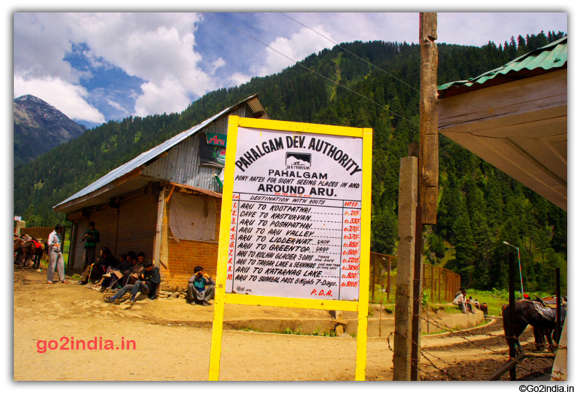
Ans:
[{"label": "white panel listing pony rates around Aru, without its yellow frame", "polygon": [[362,138],[239,127],[226,292],[358,300]]}]

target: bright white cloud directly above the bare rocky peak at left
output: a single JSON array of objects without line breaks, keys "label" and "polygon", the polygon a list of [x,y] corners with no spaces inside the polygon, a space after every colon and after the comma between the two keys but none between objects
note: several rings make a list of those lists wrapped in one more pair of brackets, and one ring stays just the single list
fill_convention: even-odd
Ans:
[{"label": "bright white cloud directly above the bare rocky peak at left", "polygon": [[71,84],[59,78],[25,79],[15,75],[14,97],[21,95],[38,97],[64,113],[68,118],[101,123],[102,113],[89,105],[85,97],[89,95],[82,86]]}]

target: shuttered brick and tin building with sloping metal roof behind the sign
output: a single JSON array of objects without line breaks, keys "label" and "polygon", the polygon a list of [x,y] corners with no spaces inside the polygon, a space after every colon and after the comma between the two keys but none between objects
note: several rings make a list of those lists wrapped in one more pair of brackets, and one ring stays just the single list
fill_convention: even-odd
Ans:
[{"label": "shuttered brick and tin building with sloping metal roof behind the sign", "polygon": [[84,268],[80,239],[95,221],[98,248],[109,247],[117,258],[144,252],[170,287],[187,287],[196,265],[214,276],[229,115],[268,119],[252,95],[56,205],[73,222],[69,266]]}]

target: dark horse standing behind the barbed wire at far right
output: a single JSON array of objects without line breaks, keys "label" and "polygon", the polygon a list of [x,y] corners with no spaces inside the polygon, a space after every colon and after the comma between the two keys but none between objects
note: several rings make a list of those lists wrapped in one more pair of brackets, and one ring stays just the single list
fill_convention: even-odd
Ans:
[{"label": "dark horse standing behind the barbed wire at far right", "polygon": [[[551,351],[554,350],[551,332],[553,332],[553,328],[555,327],[555,321],[557,317],[556,310],[550,309],[548,312],[549,318],[544,317],[543,315],[540,314],[540,312],[537,312],[537,309],[535,308],[535,302],[536,301],[520,300],[515,304],[514,339],[515,344],[517,345],[518,348],[518,353],[522,353],[522,346],[518,338],[522,334],[522,332],[524,332],[526,326],[528,326],[529,324],[533,326],[533,331],[535,329],[537,330],[535,332],[535,342],[537,343],[537,348],[539,348],[541,344],[544,344],[544,341],[542,340],[542,337],[544,335],[548,341],[549,349],[551,349]],[[537,303],[542,304],[542,302]],[[504,336],[506,337],[506,342],[510,347],[511,344],[508,337],[508,324],[509,324],[508,314],[509,314],[508,306],[507,305],[502,306],[502,325],[504,326]],[[565,315],[566,308],[564,306],[561,306],[561,316],[562,316],[561,325],[563,324]]]}]

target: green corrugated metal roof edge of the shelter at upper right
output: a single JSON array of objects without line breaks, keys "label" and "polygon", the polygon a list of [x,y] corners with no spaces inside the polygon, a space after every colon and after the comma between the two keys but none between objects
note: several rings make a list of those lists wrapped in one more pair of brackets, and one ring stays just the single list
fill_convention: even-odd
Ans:
[{"label": "green corrugated metal roof edge of the shelter at upper right", "polygon": [[479,88],[504,84],[515,79],[541,75],[555,71],[557,68],[566,68],[566,64],[567,37],[563,37],[478,77],[465,81],[448,82],[448,84],[438,86],[438,93],[440,98],[450,97]]}]

